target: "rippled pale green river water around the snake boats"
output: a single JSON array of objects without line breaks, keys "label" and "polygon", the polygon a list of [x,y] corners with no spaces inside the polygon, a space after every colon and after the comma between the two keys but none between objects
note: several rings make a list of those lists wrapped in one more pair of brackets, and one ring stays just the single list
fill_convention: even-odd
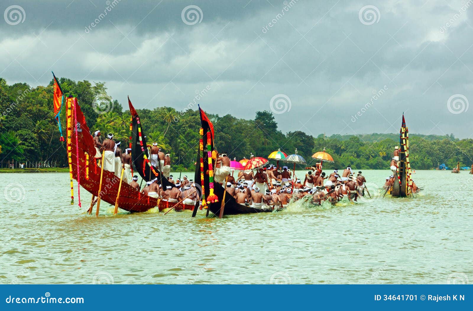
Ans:
[{"label": "rippled pale green river water around the snake boats", "polygon": [[417,171],[414,199],[382,198],[389,173],[363,172],[373,199],[224,219],[105,202],[97,218],[86,190],[70,205],[69,173],[2,173],[0,283],[473,282],[472,175]]}]

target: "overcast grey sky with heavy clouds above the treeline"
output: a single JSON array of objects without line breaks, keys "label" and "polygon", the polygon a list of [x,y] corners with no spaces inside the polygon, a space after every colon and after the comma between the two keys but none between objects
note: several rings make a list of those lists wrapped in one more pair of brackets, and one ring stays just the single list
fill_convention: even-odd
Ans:
[{"label": "overcast grey sky with heavy clouds above the treeline", "polygon": [[[56,3],[57,2],[57,3]],[[3,0],[0,77],[104,81],[126,106],[253,119],[283,132],[473,136],[473,2]],[[106,13],[106,14],[105,14]],[[101,15],[102,14],[102,15]]]}]

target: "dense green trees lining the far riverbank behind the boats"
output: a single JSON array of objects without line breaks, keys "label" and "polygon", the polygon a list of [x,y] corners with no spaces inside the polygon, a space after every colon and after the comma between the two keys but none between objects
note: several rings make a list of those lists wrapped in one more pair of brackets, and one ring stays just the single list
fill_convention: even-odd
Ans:
[{"label": "dense green trees lining the far riverbank behind the boats", "polygon": [[[122,148],[128,145],[130,113],[114,100],[113,109],[99,114],[93,109],[97,98],[107,97],[104,83],[92,85],[88,81],[60,79],[66,95],[74,95],[86,116],[90,130],[112,132]],[[59,131],[53,120],[53,82],[48,86],[31,88],[25,83],[7,85],[0,78],[0,161],[52,161],[66,165],[65,143],[59,141]],[[126,99],[123,99],[126,103]],[[139,105],[139,103],[135,103]],[[174,169],[192,168],[196,158],[200,127],[195,110],[183,112],[170,107],[153,110],[139,109],[138,113],[148,143],[158,142],[171,154]],[[342,168],[351,165],[355,169],[386,169],[392,158],[394,146],[399,145],[398,134],[332,135],[317,138],[297,130],[286,134],[278,130],[271,112],[256,112],[253,120],[237,119],[229,114],[219,116],[207,111],[215,126],[215,142],[220,152],[228,153],[238,160],[253,153],[268,156],[280,148],[287,154],[305,157],[314,164],[311,155],[326,148],[333,156],[334,164],[324,168]],[[62,116],[65,135],[65,118]],[[408,124],[409,125],[409,124]],[[411,165],[414,169],[431,169],[446,163],[453,167],[470,166],[473,155],[473,139],[459,140],[453,134],[447,136],[410,134]],[[176,165],[179,165],[176,167]],[[302,167],[305,165],[302,165]],[[300,169],[301,166],[298,166]]]}]

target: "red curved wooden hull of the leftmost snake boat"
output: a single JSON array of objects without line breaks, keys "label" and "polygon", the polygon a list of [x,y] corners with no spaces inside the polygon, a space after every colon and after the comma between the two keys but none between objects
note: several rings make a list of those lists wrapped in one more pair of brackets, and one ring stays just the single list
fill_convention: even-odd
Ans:
[{"label": "red curved wooden hull of the leftmost snake boat", "polygon": [[[97,197],[99,195],[101,168],[97,165],[94,157],[96,148],[93,138],[76,98],[67,98],[66,109],[68,118],[67,147],[72,178],[78,181],[85,190]],[[119,185],[120,178],[115,176],[114,173],[104,170],[100,191],[101,200],[115,205]],[[85,205],[89,206],[88,204]],[[157,205],[157,199],[143,195],[128,183],[122,182],[118,199],[118,207],[121,209],[129,212],[145,212]]]}]

